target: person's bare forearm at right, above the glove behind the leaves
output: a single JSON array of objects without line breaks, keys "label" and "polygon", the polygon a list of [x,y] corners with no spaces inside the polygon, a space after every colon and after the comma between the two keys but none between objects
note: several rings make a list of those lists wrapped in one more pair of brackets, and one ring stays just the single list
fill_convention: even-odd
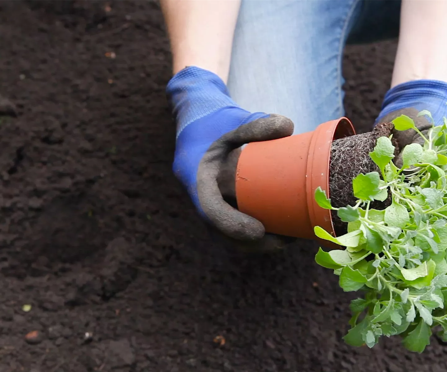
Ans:
[{"label": "person's bare forearm at right, above the glove behind the leaves", "polygon": [[447,1],[403,0],[394,87],[412,80],[447,82]]}]

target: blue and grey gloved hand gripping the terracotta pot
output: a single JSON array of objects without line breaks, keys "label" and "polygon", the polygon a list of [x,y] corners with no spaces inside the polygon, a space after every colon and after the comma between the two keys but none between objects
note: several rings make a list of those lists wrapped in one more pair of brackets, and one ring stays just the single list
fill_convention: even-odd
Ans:
[{"label": "blue and grey gloved hand gripping the terracotta pot", "polygon": [[166,92],[177,121],[174,174],[208,222],[231,238],[259,242],[262,223],[233,208],[223,194],[234,195],[240,146],[290,136],[292,121],[241,109],[219,76],[198,67],[178,72]]}]

